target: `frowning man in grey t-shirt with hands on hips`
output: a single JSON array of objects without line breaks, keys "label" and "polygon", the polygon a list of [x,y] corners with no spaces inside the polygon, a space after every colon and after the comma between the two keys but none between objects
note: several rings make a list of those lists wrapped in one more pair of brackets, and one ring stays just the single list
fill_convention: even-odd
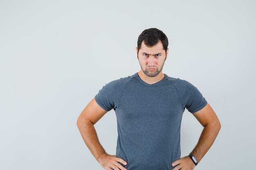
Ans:
[{"label": "frowning man in grey t-shirt with hands on hips", "polygon": [[[103,86],[79,116],[83,140],[105,170],[193,170],[216,139],[220,121],[195,86],[162,73],[168,55],[162,31],[144,30],[136,52],[141,70]],[[204,128],[192,152],[180,158],[185,108]],[[112,109],[117,116],[116,155],[106,153],[94,128]]]}]

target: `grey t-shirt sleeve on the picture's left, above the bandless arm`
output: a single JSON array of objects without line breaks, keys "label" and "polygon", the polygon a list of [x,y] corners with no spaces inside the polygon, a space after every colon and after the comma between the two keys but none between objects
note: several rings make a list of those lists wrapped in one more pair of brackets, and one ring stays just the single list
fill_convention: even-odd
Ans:
[{"label": "grey t-shirt sleeve on the picture's left, above the bandless arm", "polygon": [[99,90],[99,93],[95,95],[94,99],[97,104],[106,111],[110,111],[117,107],[119,102],[120,91],[117,81],[112,81],[106,84]]}]

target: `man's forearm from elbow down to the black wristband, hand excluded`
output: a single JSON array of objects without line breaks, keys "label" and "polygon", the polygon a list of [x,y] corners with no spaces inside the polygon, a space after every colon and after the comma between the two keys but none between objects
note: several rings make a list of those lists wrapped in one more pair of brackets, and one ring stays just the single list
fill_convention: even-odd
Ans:
[{"label": "man's forearm from elbow down to the black wristband, hand excluded", "polygon": [[204,126],[198,144],[195,146],[191,155],[193,155],[198,162],[201,161],[202,157],[207,153],[211,148],[213,142],[215,141],[219,131],[220,131],[220,122],[217,121],[215,124],[208,124]]}]

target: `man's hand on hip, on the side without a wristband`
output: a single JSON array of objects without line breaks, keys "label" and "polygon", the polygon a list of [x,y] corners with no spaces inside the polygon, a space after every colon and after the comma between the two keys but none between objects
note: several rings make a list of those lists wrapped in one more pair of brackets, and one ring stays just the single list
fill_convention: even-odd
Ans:
[{"label": "man's hand on hip, on the side without a wristband", "polygon": [[118,158],[116,155],[104,154],[101,157],[99,157],[99,164],[105,170],[127,170],[119,162],[123,163],[124,165],[127,165],[126,161],[124,161],[121,158]]}]

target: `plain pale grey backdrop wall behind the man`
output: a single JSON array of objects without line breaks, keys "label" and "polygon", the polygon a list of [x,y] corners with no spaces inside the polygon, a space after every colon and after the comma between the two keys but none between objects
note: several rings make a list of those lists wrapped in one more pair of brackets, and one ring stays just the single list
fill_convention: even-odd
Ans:
[{"label": "plain pale grey backdrop wall behind the man", "polygon": [[[137,38],[153,27],[169,40],[163,73],[196,86],[222,124],[195,170],[252,169],[255,9],[254,0],[0,0],[0,169],[103,170],[76,120],[102,86],[140,70]],[[115,111],[95,128],[115,155]],[[185,110],[182,157],[201,131]]]}]

